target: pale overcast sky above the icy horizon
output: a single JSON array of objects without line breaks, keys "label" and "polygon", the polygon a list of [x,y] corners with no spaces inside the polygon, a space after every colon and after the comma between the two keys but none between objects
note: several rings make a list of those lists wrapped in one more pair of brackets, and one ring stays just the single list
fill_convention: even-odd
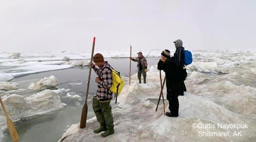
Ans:
[{"label": "pale overcast sky above the icy horizon", "polygon": [[256,1],[15,0],[0,4],[0,52],[256,48]]}]

